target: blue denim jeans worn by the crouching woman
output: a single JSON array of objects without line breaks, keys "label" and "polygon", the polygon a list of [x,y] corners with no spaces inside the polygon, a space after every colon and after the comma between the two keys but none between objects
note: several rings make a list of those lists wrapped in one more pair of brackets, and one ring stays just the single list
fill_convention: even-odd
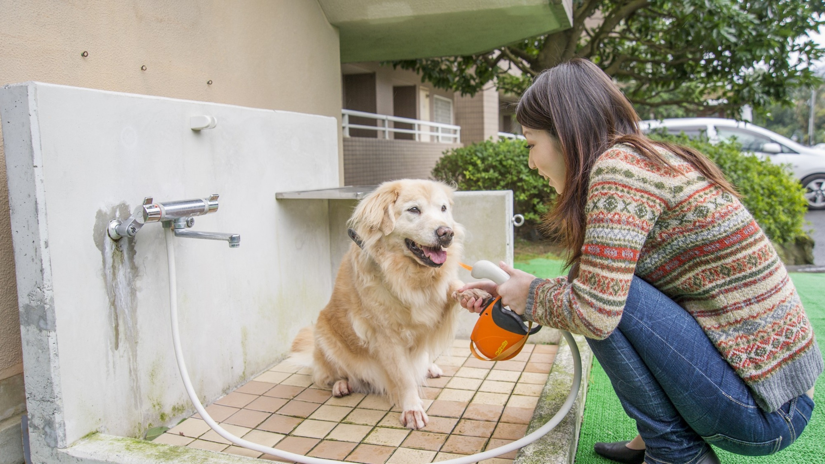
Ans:
[{"label": "blue denim jeans worn by the crouching woman", "polygon": [[619,327],[587,339],[647,445],[645,462],[698,461],[708,443],[764,456],[799,437],[813,400],[799,395],[766,413],[680,305],[634,277]]}]

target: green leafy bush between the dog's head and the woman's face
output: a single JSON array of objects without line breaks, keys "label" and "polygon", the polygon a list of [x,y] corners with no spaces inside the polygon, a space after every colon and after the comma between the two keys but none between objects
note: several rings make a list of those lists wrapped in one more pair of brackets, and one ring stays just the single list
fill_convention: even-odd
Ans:
[{"label": "green leafy bush between the dog's head and the woman's face", "polygon": [[459,190],[512,190],[514,211],[537,222],[556,192],[527,167],[528,155],[524,140],[485,140],[446,152],[432,169],[432,177],[455,182]]}]

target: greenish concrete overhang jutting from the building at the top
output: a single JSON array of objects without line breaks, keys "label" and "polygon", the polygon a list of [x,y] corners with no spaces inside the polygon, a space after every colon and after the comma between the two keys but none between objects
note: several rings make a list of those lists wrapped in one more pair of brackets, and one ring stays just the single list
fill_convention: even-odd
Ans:
[{"label": "greenish concrete overhang jutting from the building at the top", "polygon": [[318,0],[341,62],[474,54],[568,29],[572,0]]}]

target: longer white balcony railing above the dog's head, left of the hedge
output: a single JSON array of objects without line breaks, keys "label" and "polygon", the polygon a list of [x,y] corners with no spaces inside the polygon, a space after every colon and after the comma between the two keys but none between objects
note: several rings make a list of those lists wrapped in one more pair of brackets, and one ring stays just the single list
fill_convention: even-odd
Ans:
[{"label": "longer white balcony railing above the dog's head, left of the hedge", "polygon": [[[438,141],[442,144],[460,144],[461,143],[461,126],[444,124],[441,122],[422,121],[420,119],[410,119],[408,117],[378,115],[375,113],[367,113],[365,111],[355,110],[341,110],[342,127],[344,130],[344,137],[350,136],[350,129],[365,129],[375,130],[379,134],[383,134],[384,139],[389,139],[389,134],[413,134],[415,140],[422,142]],[[363,117],[372,119],[378,122],[376,125],[352,124],[350,117]],[[403,124],[413,125],[412,129],[404,129],[401,127],[390,126],[390,122],[400,122]]]}]

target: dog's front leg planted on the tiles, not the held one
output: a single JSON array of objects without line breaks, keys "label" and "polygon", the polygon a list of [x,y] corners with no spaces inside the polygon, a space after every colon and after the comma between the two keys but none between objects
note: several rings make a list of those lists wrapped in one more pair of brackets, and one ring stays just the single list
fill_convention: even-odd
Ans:
[{"label": "dog's front leg planted on the tiles, not the held one", "polygon": [[381,353],[380,362],[386,374],[386,391],[389,400],[398,405],[401,412],[401,424],[417,430],[429,422],[421,397],[418,396],[416,362],[409,359],[400,349],[394,353]]}]

